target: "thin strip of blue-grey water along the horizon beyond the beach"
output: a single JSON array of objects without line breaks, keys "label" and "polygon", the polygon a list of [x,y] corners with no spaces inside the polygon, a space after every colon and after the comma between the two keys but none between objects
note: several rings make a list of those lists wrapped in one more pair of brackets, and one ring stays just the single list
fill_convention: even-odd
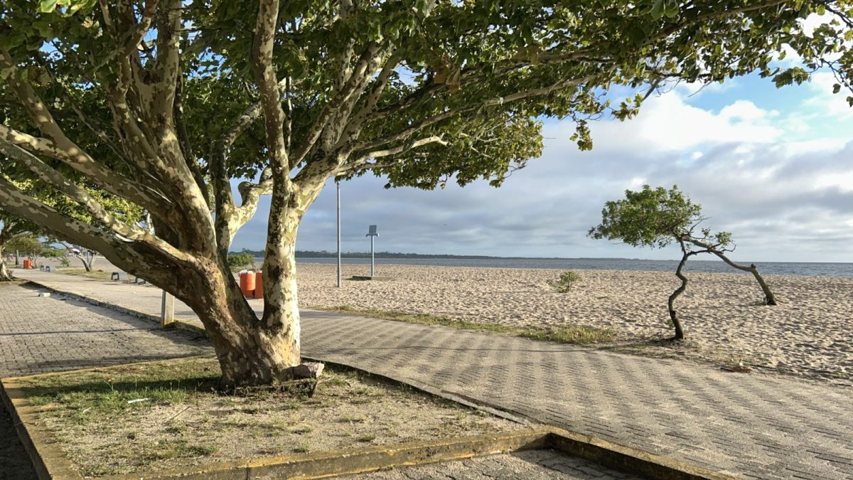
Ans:
[{"label": "thin strip of blue-grey water along the horizon beyond the beach", "polygon": [[[260,259],[258,259],[260,260]],[[300,262],[335,263],[335,258],[297,258]],[[369,264],[368,258],[345,258],[345,264]],[[629,259],[376,259],[377,265],[431,265],[431,266],[491,266],[502,268],[554,268],[558,270],[635,270],[675,272],[677,260]],[[741,265],[749,262],[740,261]],[[853,263],[807,262],[756,262],[758,271],[767,275],[809,275],[816,277],[853,277]],[[687,272],[735,273],[721,260],[688,260]],[[746,275],[749,272],[740,272]]]}]

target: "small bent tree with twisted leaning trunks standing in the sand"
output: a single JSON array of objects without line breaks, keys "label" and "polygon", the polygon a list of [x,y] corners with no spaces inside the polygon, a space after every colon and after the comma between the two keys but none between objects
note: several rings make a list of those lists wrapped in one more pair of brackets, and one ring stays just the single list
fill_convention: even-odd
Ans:
[{"label": "small bent tree with twisted leaning trunks standing in the sand", "polygon": [[[755,264],[743,266],[730,260],[726,255],[734,251],[732,234],[728,231],[711,233],[711,229],[699,229],[705,220],[702,207],[690,201],[673,186],[652,189],[643,185],[640,191],[625,190],[624,200],[606,202],[601,211],[601,225],[589,230],[589,237],[596,239],[621,240],[634,247],[652,247],[662,249],[677,242],[682,250],[682,260],[678,262],[676,277],[682,284],[672,292],[667,306],[670,320],[676,334],[673,340],[684,338],[681,320],[676,315],[675,302],[688,287],[688,278],[684,275],[684,264],[693,255],[717,255],[728,265],[751,272],[764,292],[764,303],[775,305],[776,298],[767,282],[764,281]],[[698,230],[698,232],[697,232]]]}]

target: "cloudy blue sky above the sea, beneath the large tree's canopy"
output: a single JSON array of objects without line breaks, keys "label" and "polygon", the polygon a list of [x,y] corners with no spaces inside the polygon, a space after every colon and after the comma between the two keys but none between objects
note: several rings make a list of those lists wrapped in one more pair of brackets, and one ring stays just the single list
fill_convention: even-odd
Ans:
[{"label": "cloudy blue sky above the sea, beneath the large tree's canopy", "polygon": [[[853,262],[853,108],[832,85],[828,73],[781,89],[757,75],[677,85],[632,120],[594,122],[585,152],[569,140],[570,120],[546,120],[543,155],[498,189],[385,190],[384,179],[352,179],[340,187],[342,250],[369,251],[368,225],[379,225],[376,251],[675,259],[676,247],[586,233],[624,190],[677,184],[705,225],[734,234],[734,260]],[[233,249],[263,249],[268,214],[267,198]],[[333,182],[305,215],[297,249],[336,249]]]}]

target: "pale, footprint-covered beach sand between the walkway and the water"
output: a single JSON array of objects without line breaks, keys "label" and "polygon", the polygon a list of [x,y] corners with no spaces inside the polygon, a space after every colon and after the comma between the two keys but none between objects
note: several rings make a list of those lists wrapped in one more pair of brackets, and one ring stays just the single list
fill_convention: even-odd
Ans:
[{"label": "pale, footprint-covered beach sand between the walkway and the water", "polygon": [[[343,268],[344,278],[369,271]],[[769,307],[759,305],[762,291],[748,273],[688,272],[688,290],[676,301],[688,339],[673,347],[653,341],[672,336],[666,300],[679,284],[674,273],[575,272],[583,281],[557,293],[547,284],[560,273],[554,269],[380,265],[376,274],[392,280],[345,280],[338,289],[334,265],[300,262],[299,303],[536,328],[608,327],[621,350],[853,384],[853,278],[767,275],[780,301]]]}]

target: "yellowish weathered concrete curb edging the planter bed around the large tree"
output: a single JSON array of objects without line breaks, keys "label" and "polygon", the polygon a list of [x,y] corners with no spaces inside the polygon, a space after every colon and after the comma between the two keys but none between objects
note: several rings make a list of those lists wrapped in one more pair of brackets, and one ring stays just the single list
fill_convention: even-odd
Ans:
[{"label": "yellowish weathered concrete curb edging the planter bed around the large tree", "polygon": [[[196,357],[198,358],[198,357]],[[154,360],[162,363],[171,360]],[[139,364],[136,364],[139,365]],[[123,366],[87,368],[71,372],[55,372],[28,377],[0,379],[0,394],[9,408],[15,428],[30,455],[39,478],[81,478],[47,426],[38,420],[38,407],[26,400],[20,382],[40,377],[109,371]],[[635,448],[624,447],[594,436],[586,436],[551,426],[537,426],[499,434],[466,436],[450,439],[406,442],[313,454],[293,454],[237,462],[219,462],[158,472],[109,476],[116,480],[131,478],[322,478],[341,474],[422,465],[449,460],[506,454],[519,450],[553,448],[564,454],[649,478],[675,480],[729,480],[729,477],[684,462],[666,459]]]}]

